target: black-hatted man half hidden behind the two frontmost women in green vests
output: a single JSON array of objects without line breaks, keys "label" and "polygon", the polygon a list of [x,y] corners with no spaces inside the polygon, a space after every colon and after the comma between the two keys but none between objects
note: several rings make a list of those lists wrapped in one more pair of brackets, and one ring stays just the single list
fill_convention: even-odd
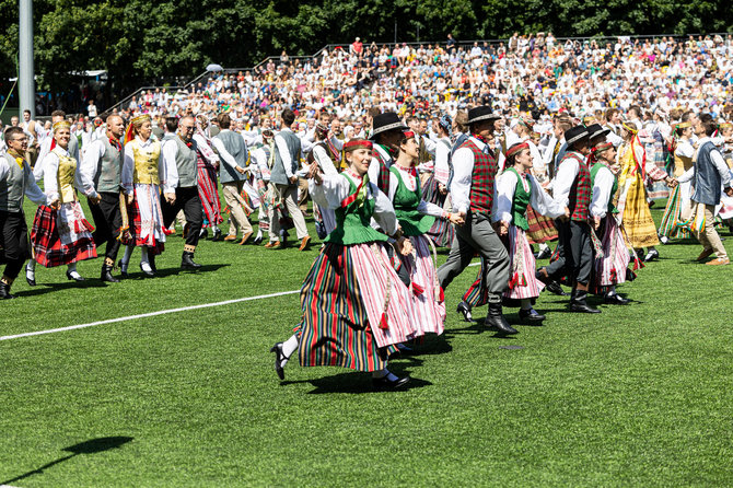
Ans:
[{"label": "black-hatted man half hidden behind the two frontmost women in green vests", "polygon": [[370,139],[374,141],[374,150],[369,165],[369,179],[385,194],[389,190],[389,166],[397,156],[396,148],[407,126],[394,112],[375,115],[372,120]]}]

